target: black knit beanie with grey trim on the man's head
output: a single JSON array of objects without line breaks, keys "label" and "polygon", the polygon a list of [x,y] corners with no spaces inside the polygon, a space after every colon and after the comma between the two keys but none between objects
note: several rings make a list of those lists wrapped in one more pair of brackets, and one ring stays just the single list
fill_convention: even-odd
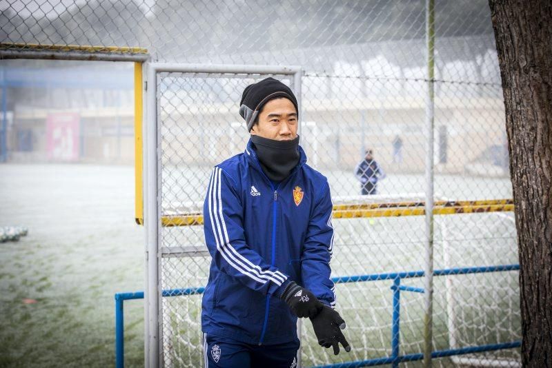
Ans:
[{"label": "black knit beanie with grey trim on the man's head", "polygon": [[268,77],[246,87],[242,94],[242,101],[239,101],[239,114],[245,119],[248,132],[253,128],[255,119],[257,119],[257,115],[262,110],[264,104],[276,97],[286,97],[286,99],[293,103],[295,111],[299,114],[295,95],[281,81]]}]

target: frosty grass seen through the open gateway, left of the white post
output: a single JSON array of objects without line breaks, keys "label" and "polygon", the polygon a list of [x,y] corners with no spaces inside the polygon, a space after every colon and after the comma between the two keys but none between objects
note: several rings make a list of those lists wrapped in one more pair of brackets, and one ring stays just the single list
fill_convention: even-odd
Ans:
[{"label": "frosty grass seen through the open gateway, left of the white post", "polygon": [[[0,165],[0,367],[110,367],[115,292],[143,289],[143,229],[128,166]],[[36,300],[26,304],[25,299]],[[129,367],[143,365],[142,303],[126,303]]]}]

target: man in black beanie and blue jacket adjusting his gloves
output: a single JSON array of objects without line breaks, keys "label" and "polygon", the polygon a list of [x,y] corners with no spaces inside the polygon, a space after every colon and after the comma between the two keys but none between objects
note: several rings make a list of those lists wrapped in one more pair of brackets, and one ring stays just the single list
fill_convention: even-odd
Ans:
[{"label": "man in black beanie and blue jacket adjusting his gloves", "polygon": [[320,345],[350,347],[330,279],[328,182],[298,145],[297,99],[267,78],[244,90],[245,152],[215,166],[204,204],[213,260],[201,329],[206,367],[295,367],[297,317]]}]

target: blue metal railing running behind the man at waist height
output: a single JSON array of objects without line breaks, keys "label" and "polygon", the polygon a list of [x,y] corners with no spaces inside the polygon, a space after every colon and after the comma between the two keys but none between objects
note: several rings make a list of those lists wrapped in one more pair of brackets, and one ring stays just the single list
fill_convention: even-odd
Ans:
[{"label": "blue metal railing running behind the man at waist height", "polygon": [[[435,269],[433,276],[450,276],[450,275],[465,275],[465,274],[484,274],[487,272],[505,272],[517,271],[520,265],[497,265],[489,267],[463,267],[451,269]],[[414,360],[422,360],[424,354],[406,354],[400,356],[400,292],[417,292],[423,293],[424,289],[420,287],[411,287],[400,285],[402,278],[420,278],[424,276],[423,271],[411,272],[394,272],[385,274],[369,274],[359,276],[341,276],[332,278],[333,282],[339,283],[361,283],[366,281],[382,281],[393,280],[393,323],[391,327],[391,356],[374,358],[368,360],[358,360],[355,362],[339,363],[335,365],[323,365],[320,367],[371,367],[374,365],[391,364],[393,368],[398,367],[400,362],[409,362]],[[185,289],[168,289],[163,290],[162,296],[187,296],[199,295],[205,292],[204,287],[188,287]],[[143,299],[144,292],[134,293],[117,293],[115,294],[115,367],[124,367],[124,300]],[[493,351],[500,349],[512,349],[520,347],[521,340],[515,340],[511,343],[480,345],[475,347],[463,347],[460,349],[437,350],[431,353],[432,358],[443,358],[445,356],[454,356],[462,354],[479,353],[482,351]]]}]

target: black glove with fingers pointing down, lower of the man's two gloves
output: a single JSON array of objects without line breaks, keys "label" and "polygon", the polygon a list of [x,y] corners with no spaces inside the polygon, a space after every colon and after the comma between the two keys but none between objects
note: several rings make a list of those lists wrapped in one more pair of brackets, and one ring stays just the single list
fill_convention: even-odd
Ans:
[{"label": "black glove with fingers pointing down, lower of the man's two gloves", "polygon": [[318,344],[322,347],[333,347],[333,354],[339,354],[339,343],[345,351],[351,351],[351,346],[343,336],[342,329],[345,329],[345,321],[337,311],[324,305],[321,311],[311,318]]}]

